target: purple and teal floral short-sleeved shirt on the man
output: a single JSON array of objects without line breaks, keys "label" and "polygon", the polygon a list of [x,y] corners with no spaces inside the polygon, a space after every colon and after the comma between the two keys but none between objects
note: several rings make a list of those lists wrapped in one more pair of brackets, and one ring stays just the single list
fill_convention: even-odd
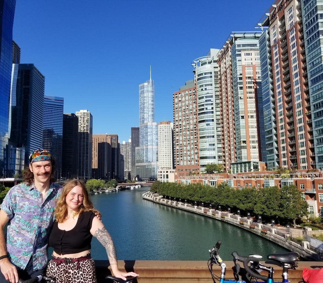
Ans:
[{"label": "purple and teal floral short-sleeved shirt on the man", "polygon": [[46,267],[48,237],[61,191],[61,185],[52,183],[43,201],[34,184],[21,183],[5,196],[0,208],[9,218],[6,246],[9,259],[18,268],[25,269],[31,257],[34,270]]}]

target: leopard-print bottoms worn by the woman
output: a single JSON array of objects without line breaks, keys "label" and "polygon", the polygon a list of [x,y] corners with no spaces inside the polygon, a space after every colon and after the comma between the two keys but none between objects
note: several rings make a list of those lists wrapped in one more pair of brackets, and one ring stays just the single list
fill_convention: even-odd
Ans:
[{"label": "leopard-print bottoms worn by the woman", "polygon": [[[53,258],[57,257],[53,256]],[[92,258],[79,262],[60,263],[59,265],[54,260],[50,260],[46,275],[55,277],[57,283],[97,283]]]}]

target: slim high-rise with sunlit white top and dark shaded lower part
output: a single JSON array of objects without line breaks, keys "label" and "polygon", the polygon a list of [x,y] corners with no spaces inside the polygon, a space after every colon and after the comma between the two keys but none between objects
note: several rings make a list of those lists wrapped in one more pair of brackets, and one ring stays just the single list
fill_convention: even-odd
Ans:
[{"label": "slim high-rise with sunlit white top and dark shaded lower part", "polygon": [[76,112],[78,116],[78,177],[92,177],[92,129],[93,117],[87,110]]}]

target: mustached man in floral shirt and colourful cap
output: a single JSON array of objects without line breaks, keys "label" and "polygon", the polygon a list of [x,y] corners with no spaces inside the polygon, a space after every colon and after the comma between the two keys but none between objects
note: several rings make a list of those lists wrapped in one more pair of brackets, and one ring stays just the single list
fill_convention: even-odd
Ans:
[{"label": "mustached man in floral shirt and colourful cap", "polygon": [[47,266],[48,236],[62,186],[54,183],[55,162],[48,150],[33,151],[29,163],[25,182],[12,187],[0,206],[0,283],[35,277]]}]

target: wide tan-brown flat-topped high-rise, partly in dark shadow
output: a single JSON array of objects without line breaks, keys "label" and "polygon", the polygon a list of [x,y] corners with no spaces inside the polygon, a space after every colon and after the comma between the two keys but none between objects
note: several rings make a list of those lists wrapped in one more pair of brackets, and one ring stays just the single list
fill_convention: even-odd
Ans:
[{"label": "wide tan-brown flat-topped high-rise, partly in dark shadow", "polygon": [[111,172],[111,137],[108,134],[92,135],[93,178],[109,179]]}]

